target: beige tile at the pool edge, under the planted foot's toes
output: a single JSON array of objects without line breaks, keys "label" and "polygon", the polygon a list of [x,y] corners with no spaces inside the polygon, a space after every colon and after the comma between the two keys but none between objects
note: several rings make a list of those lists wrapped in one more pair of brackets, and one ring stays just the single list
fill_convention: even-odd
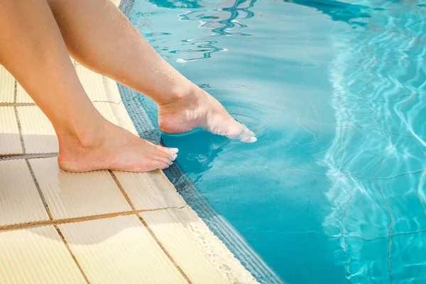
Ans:
[{"label": "beige tile at the pool edge, under the planted foot's toes", "polygon": [[163,172],[126,173],[114,171],[137,210],[182,207],[185,201]]}]

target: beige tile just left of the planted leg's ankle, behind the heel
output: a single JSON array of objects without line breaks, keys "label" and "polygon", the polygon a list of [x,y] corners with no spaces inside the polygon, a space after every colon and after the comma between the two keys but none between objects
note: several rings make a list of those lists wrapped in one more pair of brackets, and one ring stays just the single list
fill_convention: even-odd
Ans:
[{"label": "beige tile just left of the planted leg's ankle, behind the heel", "polygon": [[58,153],[52,124],[38,107],[18,107],[26,153]]}]

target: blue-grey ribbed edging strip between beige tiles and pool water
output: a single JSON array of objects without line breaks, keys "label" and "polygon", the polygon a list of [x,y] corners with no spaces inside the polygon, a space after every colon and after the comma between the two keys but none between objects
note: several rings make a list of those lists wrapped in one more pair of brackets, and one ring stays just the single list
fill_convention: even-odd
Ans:
[{"label": "blue-grey ribbed edging strip between beige tiles and pool water", "polygon": [[[119,9],[127,18],[131,16],[131,10],[135,0],[121,0]],[[160,132],[155,129],[148,116],[149,109],[141,102],[138,92],[135,92],[121,84],[119,92],[123,99],[124,106],[131,116],[133,124],[136,126],[141,138],[145,138],[155,143],[163,143]],[[260,283],[283,283],[278,275],[251,249],[244,238],[239,234],[229,222],[224,219],[209,202],[201,195],[192,181],[187,178],[178,163],[168,170],[164,170],[165,175],[173,183],[176,190],[182,195],[187,204],[197,212],[209,229],[226,245],[234,256]]]}]

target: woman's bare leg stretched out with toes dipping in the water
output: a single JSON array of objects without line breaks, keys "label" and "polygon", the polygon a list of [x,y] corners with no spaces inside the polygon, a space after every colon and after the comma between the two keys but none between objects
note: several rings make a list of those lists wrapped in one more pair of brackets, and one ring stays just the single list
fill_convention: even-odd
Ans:
[{"label": "woman's bare leg stretched out with toes dipping in the water", "polygon": [[48,0],[72,57],[103,75],[148,95],[158,104],[160,129],[183,133],[202,127],[254,142],[253,132],[222,104],[155,52],[109,0]]}]

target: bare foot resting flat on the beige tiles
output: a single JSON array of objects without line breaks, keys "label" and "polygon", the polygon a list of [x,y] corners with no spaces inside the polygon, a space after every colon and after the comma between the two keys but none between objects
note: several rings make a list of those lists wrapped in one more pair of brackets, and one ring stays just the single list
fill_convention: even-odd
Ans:
[{"label": "bare foot resting flat on the beige tiles", "polygon": [[148,172],[165,169],[177,157],[177,148],[165,148],[145,141],[119,126],[103,121],[97,133],[82,139],[58,135],[58,163],[62,170],[126,170]]}]

